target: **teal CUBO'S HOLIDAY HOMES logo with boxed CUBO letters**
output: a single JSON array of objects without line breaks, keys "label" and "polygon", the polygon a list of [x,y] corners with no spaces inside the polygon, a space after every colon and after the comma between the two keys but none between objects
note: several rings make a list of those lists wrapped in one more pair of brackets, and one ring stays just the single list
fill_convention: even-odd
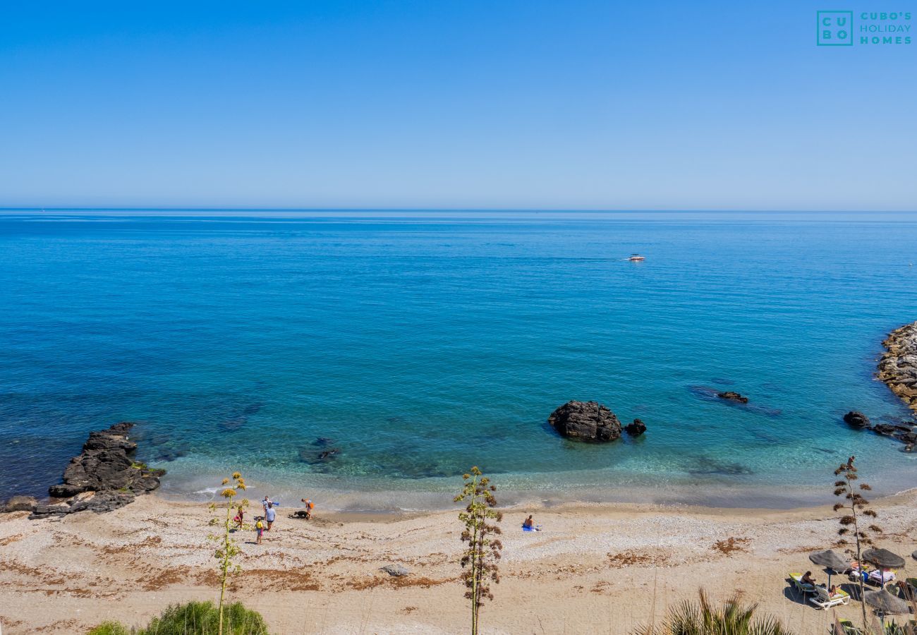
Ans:
[{"label": "teal CUBO'S HOLIDAY HOMES logo with boxed CUBO letters", "polygon": [[816,11],[815,18],[818,46],[911,44],[910,11]]}]

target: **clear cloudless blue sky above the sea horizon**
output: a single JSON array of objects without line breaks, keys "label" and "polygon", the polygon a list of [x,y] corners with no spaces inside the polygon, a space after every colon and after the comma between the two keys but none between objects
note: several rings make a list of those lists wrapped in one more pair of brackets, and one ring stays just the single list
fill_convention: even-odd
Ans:
[{"label": "clear cloudless blue sky above the sea horizon", "polygon": [[836,4],[8,2],[0,206],[915,209],[917,41]]}]

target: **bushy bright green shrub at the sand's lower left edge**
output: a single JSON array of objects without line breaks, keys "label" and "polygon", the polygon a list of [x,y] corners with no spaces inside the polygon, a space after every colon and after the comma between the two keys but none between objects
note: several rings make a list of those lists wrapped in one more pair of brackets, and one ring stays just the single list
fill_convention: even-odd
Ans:
[{"label": "bushy bright green shrub at the sand's lower left edge", "polygon": [[[166,608],[137,635],[216,635],[220,613],[213,602],[188,602]],[[241,602],[223,607],[224,635],[267,635],[268,627],[258,611]]]}]

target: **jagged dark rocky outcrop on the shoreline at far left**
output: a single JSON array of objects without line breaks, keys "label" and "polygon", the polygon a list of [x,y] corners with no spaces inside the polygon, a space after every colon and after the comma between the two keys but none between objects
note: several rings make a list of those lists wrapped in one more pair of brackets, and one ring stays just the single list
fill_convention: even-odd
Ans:
[{"label": "jagged dark rocky outcrop on the shoreline at far left", "polygon": [[127,439],[132,423],[116,423],[109,429],[91,432],[83,452],[71,459],[63,483],[51,485],[50,505],[36,506],[29,518],[61,516],[77,511],[105,512],[124,507],[135,496],[160,486],[164,470],[150,470],[131,457],[137,443]]}]

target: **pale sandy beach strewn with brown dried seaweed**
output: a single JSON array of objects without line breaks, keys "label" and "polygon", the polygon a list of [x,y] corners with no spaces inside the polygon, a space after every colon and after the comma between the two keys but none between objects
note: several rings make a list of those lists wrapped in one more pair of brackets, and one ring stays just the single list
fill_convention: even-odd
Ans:
[{"label": "pale sandy beach strewn with brown dried seaweed", "polygon": [[[881,546],[913,551],[915,502],[911,491],[878,503]],[[260,610],[272,632],[468,630],[454,512],[304,521],[289,511],[261,545],[253,532],[237,534],[243,572],[230,596]],[[529,512],[540,533],[519,529]],[[143,625],[169,603],[217,596],[206,505],[141,496],[109,514],[27,516],[0,516],[7,635],[81,633],[113,618]],[[717,598],[741,591],[795,631],[824,633],[833,612],[803,604],[786,577],[814,569],[806,554],[831,546],[836,527],[830,507],[508,509],[503,581],[483,609],[484,632],[627,633],[703,586]],[[411,574],[392,578],[380,571],[389,563]],[[859,606],[837,611],[856,618]]]}]

